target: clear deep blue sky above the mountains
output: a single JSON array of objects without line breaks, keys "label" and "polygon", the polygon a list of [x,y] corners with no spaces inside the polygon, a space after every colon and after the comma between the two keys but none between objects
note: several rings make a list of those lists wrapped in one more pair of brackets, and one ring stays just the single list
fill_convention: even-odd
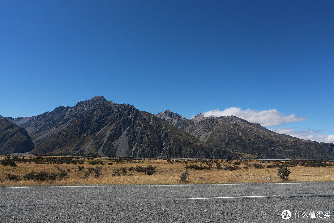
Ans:
[{"label": "clear deep blue sky above the mountains", "polygon": [[0,33],[2,116],[100,95],[334,142],[333,1],[1,1]]}]

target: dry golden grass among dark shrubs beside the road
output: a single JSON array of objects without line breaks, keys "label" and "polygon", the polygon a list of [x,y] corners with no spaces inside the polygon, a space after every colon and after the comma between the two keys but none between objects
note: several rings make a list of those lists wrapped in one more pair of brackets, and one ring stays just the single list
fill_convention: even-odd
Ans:
[{"label": "dry golden grass among dark shrubs beside the road", "polygon": [[[3,160],[5,156],[0,156]],[[26,156],[26,163],[16,162],[16,167],[0,165],[0,186],[33,186],[33,185],[142,185],[142,184],[180,184],[180,175],[186,170],[185,166],[190,163],[175,162],[168,163],[166,159],[132,159],[132,162],[115,163],[115,160],[106,160],[105,158],[95,158],[94,160],[103,160],[106,162],[104,165],[91,165],[85,158],[85,163],[80,166],[85,166],[85,169],[78,171],[78,164],[36,164],[34,162],[29,163],[29,159],[35,156]],[[84,157],[80,157],[82,160]],[[174,159],[175,160],[175,159]],[[188,160],[188,159],[180,159]],[[113,161],[112,165],[107,163]],[[135,162],[133,162],[135,161]],[[140,161],[140,162],[138,162]],[[143,162],[142,162],[143,161]],[[195,165],[202,164],[200,160],[191,159]],[[234,165],[236,160],[228,160],[221,162],[222,168],[226,165]],[[261,163],[260,161],[240,161],[238,165],[241,169],[235,171],[217,170],[216,164],[213,163],[211,170],[189,170],[188,184],[222,184],[222,183],[270,183],[280,182],[280,178],[277,176],[277,168],[269,169],[256,169],[253,166],[246,166],[245,163],[253,164],[260,163],[263,165],[273,164],[274,161],[266,161]],[[333,162],[332,162],[333,163]],[[147,165],[157,166],[156,173],[148,176],[145,173],[139,173],[136,171],[128,171],[124,176],[123,173],[120,176],[112,176],[113,169],[125,167],[127,170],[131,166],[136,167]],[[334,163],[333,163],[334,165]],[[83,174],[87,171],[88,167],[103,166],[102,176],[95,178],[92,172],[89,177],[83,179]],[[34,171],[39,173],[40,171],[55,172],[59,167],[66,171],[68,177],[66,179],[57,179],[55,181],[34,181],[23,180],[23,176],[27,173]],[[69,169],[69,171],[67,171]],[[334,182],[334,168],[330,167],[305,167],[301,165],[290,167],[291,174],[289,176],[290,182]],[[9,181],[6,179],[6,174],[11,173],[13,175],[20,176],[19,181]],[[272,178],[272,180],[268,180]]]}]

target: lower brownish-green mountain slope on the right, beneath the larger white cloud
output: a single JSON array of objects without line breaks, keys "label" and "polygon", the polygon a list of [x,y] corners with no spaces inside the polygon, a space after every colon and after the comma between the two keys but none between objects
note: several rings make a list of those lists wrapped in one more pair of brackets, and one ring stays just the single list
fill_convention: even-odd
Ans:
[{"label": "lower brownish-green mountain slope on the right, beneath the larger white cloud", "polygon": [[319,143],[278,134],[260,124],[235,116],[185,119],[169,110],[157,117],[185,131],[205,144],[232,152],[251,154],[254,158],[333,159],[334,144]]}]

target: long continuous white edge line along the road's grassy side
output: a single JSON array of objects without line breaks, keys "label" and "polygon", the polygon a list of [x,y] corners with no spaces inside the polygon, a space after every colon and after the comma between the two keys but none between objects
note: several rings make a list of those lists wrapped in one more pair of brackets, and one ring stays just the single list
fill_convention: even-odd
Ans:
[{"label": "long continuous white edge line along the road's grassy side", "polygon": [[254,183],[254,184],[159,184],[159,185],[68,185],[68,186],[24,186],[0,187],[0,189],[15,188],[59,188],[59,187],[187,187],[187,186],[231,186],[231,185],[273,185],[273,184],[334,184],[334,182],[295,182],[295,183]]}]

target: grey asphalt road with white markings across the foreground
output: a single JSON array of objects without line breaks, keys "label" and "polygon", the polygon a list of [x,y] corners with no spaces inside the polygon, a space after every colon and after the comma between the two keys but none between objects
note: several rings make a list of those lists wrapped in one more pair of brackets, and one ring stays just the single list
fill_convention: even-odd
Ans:
[{"label": "grey asphalt road with white markings across the foreground", "polygon": [[334,183],[2,187],[0,222],[334,222]]}]

